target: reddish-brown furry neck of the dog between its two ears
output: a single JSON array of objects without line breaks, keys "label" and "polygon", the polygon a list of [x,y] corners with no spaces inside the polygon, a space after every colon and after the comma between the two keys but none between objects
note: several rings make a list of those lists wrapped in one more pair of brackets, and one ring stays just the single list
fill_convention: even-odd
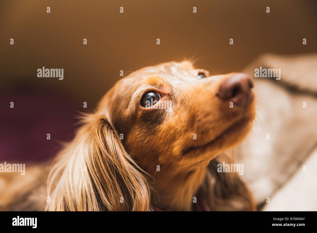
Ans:
[{"label": "reddish-brown furry neck of the dog between its two ears", "polygon": [[152,203],[165,210],[190,211],[207,166],[175,170],[160,167],[154,177]]}]

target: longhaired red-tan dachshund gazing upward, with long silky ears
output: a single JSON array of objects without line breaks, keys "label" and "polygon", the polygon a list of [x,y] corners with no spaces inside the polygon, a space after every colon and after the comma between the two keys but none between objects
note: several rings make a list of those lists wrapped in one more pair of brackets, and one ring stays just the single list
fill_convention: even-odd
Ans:
[{"label": "longhaired red-tan dachshund gazing upward, with long silky ears", "polygon": [[216,158],[249,133],[252,87],[246,74],[210,76],[189,61],[132,72],[83,116],[47,184],[38,181],[43,197],[15,192],[37,210],[255,210],[238,174],[217,172]]}]

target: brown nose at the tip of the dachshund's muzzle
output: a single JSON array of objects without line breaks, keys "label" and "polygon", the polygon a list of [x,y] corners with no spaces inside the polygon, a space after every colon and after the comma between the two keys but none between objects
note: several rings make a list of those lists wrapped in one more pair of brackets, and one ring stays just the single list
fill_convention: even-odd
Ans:
[{"label": "brown nose at the tip of the dachshund's muzzle", "polygon": [[225,79],[219,87],[217,96],[241,107],[248,107],[253,100],[253,81],[247,74],[237,73]]}]

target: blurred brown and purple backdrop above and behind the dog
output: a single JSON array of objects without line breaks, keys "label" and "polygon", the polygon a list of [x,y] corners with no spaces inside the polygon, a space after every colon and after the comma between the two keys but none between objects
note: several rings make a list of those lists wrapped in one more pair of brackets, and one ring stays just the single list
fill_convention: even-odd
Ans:
[{"label": "blurred brown and purple backdrop above and behind the dog", "polygon": [[[317,52],[316,9],[301,0],[0,1],[0,160],[53,156],[120,70],[186,58],[225,74],[262,53]],[[38,78],[43,66],[63,68],[64,79]]]}]

